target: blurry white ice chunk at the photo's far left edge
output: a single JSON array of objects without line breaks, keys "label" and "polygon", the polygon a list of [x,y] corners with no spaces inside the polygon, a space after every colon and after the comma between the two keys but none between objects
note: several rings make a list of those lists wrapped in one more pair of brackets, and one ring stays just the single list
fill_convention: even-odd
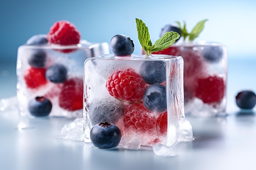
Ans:
[{"label": "blurry white ice chunk at the photo's far left edge", "polygon": [[0,100],[0,111],[18,110],[17,96],[4,98]]}]

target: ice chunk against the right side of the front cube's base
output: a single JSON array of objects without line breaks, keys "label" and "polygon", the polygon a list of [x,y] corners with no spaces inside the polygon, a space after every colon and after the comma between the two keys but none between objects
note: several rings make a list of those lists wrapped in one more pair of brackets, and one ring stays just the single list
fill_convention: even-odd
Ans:
[{"label": "ice chunk against the right side of the front cube's base", "polygon": [[192,140],[193,140],[192,126],[185,117],[181,117],[179,121],[178,141],[192,141]]}]

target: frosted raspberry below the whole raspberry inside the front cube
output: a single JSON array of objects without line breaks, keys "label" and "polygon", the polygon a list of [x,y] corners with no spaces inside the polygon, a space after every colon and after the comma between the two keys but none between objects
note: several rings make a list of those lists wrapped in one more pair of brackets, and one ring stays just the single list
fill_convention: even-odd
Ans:
[{"label": "frosted raspberry below the whole raspberry inside the front cube", "polygon": [[124,128],[137,132],[150,132],[155,130],[157,114],[150,113],[143,103],[130,104],[124,114]]}]

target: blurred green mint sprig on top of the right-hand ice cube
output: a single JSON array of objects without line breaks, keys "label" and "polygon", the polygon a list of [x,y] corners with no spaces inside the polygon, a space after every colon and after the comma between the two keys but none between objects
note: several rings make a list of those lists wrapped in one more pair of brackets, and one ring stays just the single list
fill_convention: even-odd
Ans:
[{"label": "blurred green mint sprig on top of the right-hand ice cube", "polygon": [[195,38],[197,38],[199,36],[199,34],[202,32],[202,30],[204,29],[204,23],[207,21],[206,20],[202,20],[200,22],[198,22],[195,27],[192,29],[191,33],[188,33],[187,29],[186,29],[186,22],[184,21],[184,25],[182,26],[180,22],[177,21],[177,24],[179,26],[179,29],[181,31],[181,36],[183,37],[183,40],[185,41],[186,38],[189,38],[189,41],[193,41],[195,40]]}]

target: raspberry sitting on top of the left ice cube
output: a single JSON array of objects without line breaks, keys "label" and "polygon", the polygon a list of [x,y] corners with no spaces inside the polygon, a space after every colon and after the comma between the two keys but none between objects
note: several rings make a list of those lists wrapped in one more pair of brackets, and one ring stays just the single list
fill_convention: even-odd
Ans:
[{"label": "raspberry sitting on top of the left ice cube", "polygon": [[60,45],[78,44],[80,37],[76,27],[65,20],[55,22],[47,34],[47,40],[50,44]]}]

